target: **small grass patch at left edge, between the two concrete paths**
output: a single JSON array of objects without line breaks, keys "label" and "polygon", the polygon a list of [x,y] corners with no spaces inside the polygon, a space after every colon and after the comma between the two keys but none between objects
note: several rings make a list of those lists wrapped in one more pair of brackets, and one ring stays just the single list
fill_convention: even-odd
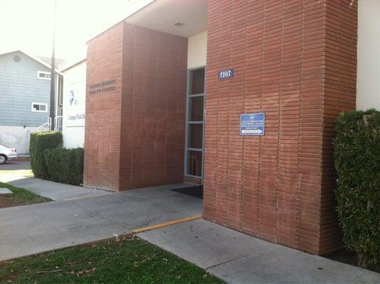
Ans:
[{"label": "small grass patch at left edge, between the two concrete paths", "polygon": [[6,187],[13,192],[13,195],[0,195],[0,208],[51,201],[50,198],[41,197],[21,187],[13,187],[4,182],[0,182],[0,187]]}]

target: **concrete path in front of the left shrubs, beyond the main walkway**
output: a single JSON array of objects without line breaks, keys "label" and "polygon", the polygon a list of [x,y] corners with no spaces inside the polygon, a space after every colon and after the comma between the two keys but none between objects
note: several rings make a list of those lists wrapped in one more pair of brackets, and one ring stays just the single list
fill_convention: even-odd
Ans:
[{"label": "concrete path in front of the left shrubs, beyond the main walkway", "polygon": [[16,187],[23,187],[26,190],[43,197],[48,197],[51,200],[75,200],[77,198],[109,195],[113,193],[105,190],[94,190],[88,187],[40,180],[39,178],[19,178],[8,183]]}]

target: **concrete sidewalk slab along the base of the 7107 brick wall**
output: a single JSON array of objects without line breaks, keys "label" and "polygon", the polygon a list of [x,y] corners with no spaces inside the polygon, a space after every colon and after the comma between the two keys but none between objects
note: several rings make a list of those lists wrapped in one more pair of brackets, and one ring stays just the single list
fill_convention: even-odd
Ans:
[{"label": "concrete sidewalk slab along the base of the 7107 brick wall", "polygon": [[380,283],[379,273],[271,244],[203,219],[138,236],[227,283]]}]

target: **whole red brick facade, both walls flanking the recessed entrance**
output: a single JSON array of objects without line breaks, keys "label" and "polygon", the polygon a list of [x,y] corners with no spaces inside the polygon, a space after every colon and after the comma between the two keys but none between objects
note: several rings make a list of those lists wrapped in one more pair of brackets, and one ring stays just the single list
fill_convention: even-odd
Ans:
[{"label": "whole red brick facade, both walls flanking the recessed entrance", "polygon": [[[155,2],[146,13],[159,15],[163,2]],[[355,108],[357,1],[204,2],[204,217],[301,251],[334,251],[332,138],[337,115]],[[188,178],[190,46],[198,46],[190,42],[204,30],[197,15],[181,32],[143,11],[88,43],[87,186]],[[229,68],[234,76],[219,80]],[[240,135],[246,113],[266,115],[264,136]]]}]

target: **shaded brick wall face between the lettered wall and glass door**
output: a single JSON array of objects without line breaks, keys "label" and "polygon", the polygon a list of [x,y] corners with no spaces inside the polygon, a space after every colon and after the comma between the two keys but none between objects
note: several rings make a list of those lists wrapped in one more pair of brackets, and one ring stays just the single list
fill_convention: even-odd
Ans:
[{"label": "shaded brick wall face between the lettered wall and glass door", "polygon": [[120,188],[183,182],[188,39],[124,27]]}]

